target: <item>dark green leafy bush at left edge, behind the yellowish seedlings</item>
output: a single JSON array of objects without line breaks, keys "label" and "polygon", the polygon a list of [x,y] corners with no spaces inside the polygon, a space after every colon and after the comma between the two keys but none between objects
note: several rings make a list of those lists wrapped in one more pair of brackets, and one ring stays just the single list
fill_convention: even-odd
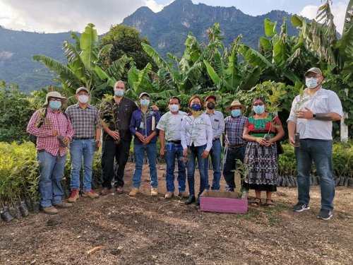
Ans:
[{"label": "dark green leafy bush at left edge, behind the yellowish seedlings", "polygon": [[0,81],[0,141],[11,143],[29,139],[25,129],[32,112],[25,93],[16,85]]}]

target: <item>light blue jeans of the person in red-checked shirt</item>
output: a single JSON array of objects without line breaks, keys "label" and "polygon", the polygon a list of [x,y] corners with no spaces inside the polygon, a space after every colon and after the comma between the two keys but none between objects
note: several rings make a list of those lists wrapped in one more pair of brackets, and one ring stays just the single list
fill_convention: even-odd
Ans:
[{"label": "light blue jeans of the person in red-checked shirt", "polygon": [[60,204],[63,200],[63,187],[61,179],[64,176],[66,154],[52,155],[46,151],[37,152],[37,160],[40,162],[40,205],[48,207]]}]

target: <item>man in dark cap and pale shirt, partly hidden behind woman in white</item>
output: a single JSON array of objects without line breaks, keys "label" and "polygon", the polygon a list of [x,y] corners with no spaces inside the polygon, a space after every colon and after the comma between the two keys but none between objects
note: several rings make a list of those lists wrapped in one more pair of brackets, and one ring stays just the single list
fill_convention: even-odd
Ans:
[{"label": "man in dark cap and pale shirt, partly hidden behind woman in white", "polygon": [[212,161],[213,168],[213,181],[212,186],[208,184],[208,158],[205,160],[204,170],[206,176],[206,189],[219,190],[220,189],[220,163],[222,154],[222,143],[220,137],[225,131],[225,117],[222,112],[215,110],[216,97],[215,95],[209,95],[205,98],[206,114],[210,117],[213,130],[213,141],[212,149],[210,150],[210,158]]}]

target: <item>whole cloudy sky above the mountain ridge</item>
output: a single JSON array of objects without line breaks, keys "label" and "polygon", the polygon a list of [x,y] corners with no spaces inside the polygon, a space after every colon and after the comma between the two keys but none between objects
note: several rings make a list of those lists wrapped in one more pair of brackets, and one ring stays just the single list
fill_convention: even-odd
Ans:
[{"label": "whole cloudy sky above the mountain ridge", "polygon": [[[140,6],[158,12],[173,0],[0,0],[0,25],[13,30],[58,33],[83,31],[93,23],[99,34],[122,22]],[[235,6],[251,16],[283,10],[314,18],[321,0],[192,0],[193,4]],[[349,0],[333,0],[335,25],[341,33]]]}]

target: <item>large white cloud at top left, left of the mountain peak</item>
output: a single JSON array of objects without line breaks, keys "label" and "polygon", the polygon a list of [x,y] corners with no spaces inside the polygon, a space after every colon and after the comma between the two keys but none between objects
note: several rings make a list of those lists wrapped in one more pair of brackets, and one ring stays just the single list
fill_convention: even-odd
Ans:
[{"label": "large white cloud at top left, left of the mountain peak", "polygon": [[[93,23],[99,34],[152,0],[0,0],[0,25],[13,30],[57,33],[83,31]],[[154,5],[157,8],[157,4]]]}]

